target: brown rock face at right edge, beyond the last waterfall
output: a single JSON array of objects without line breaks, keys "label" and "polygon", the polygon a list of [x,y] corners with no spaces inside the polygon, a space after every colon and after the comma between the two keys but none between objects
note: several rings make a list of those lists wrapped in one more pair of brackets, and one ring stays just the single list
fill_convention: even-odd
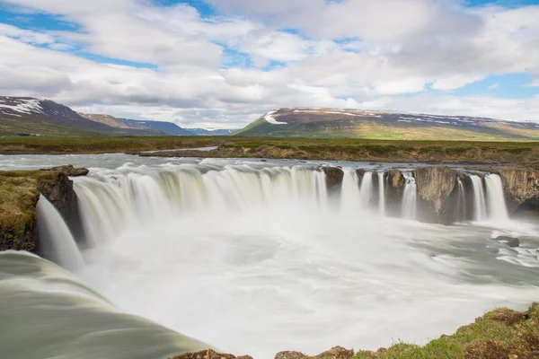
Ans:
[{"label": "brown rock face at right edge, beyond the last waterfall", "polygon": [[509,213],[519,210],[539,211],[539,171],[501,169]]}]

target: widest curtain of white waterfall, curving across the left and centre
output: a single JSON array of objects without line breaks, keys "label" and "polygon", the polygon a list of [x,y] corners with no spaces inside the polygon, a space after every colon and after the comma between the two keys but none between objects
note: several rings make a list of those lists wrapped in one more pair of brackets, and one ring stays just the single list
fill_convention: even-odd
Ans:
[{"label": "widest curtain of white waterfall, curving across the left and centre", "polygon": [[[357,182],[354,186],[358,191]],[[323,171],[305,167],[252,169],[247,165],[80,178],[75,179],[75,191],[84,214],[84,229],[93,243],[110,241],[129,223],[251,211],[298,201],[325,207],[328,197]]]}]

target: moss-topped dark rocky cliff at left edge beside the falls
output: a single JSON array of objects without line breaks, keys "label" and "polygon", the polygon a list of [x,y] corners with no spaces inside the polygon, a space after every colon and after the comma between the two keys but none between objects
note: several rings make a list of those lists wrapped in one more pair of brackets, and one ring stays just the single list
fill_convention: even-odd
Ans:
[{"label": "moss-topped dark rocky cliff at left edge beside the falls", "polygon": [[40,195],[57,207],[75,238],[84,238],[69,175],[84,175],[87,170],[72,166],[53,170],[0,171],[0,250],[39,251],[36,205]]}]

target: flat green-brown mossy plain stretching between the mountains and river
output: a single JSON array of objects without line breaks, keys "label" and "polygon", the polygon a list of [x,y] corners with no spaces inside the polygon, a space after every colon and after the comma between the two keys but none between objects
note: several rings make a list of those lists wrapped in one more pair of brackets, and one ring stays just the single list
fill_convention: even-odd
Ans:
[{"label": "flat green-brown mossy plain stretching between the mountains and river", "polygon": [[238,136],[0,138],[0,154],[139,153],[207,146],[219,146],[219,148],[213,153],[192,154],[209,157],[268,157],[376,162],[479,162],[539,166],[539,142],[398,141],[357,138],[314,139]]}]

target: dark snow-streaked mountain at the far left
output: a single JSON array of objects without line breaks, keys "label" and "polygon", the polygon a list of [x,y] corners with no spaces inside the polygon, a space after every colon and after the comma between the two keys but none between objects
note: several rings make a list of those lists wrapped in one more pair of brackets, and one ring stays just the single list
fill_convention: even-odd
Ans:
[{"label": "dark snow-streaked mountain at the far left", "polygon": [[31,97],[0,96],[0,136],[155,136],[84,118],[64,105]]}]

